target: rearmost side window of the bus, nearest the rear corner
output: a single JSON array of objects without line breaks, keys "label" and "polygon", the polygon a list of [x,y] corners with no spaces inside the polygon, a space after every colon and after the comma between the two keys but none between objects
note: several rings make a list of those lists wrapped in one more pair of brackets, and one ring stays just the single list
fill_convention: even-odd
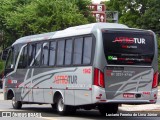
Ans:
[{"label": "rearmost side window of the bus, nearest the rear corner", "polygon": [[92,55],[92,37],[84,38],[83,64],[90,64]]}]

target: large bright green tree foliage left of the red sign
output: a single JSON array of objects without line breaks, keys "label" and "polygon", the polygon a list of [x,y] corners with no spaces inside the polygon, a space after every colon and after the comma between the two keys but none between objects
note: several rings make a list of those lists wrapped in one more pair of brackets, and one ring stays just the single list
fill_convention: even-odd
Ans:
[{"label": "large bright green tree foliage left of the red sign", "polygon": [[16,39],[94,22],[90,0],[1,0],[0,29],[6,46]]}]

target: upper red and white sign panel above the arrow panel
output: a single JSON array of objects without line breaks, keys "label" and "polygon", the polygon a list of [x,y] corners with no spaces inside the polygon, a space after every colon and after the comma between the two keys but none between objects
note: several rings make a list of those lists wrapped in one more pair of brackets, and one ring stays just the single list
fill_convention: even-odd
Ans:
[{"label": "upper red and white sign panel above the arrow panel", "polygon": [[102,12],[102,11],[106,11],[106,6],[105,6],[105,4],[91,4],[90,6],[89,6],[89,8],[92,10],[92,11],[100,11],[100,12]]}]

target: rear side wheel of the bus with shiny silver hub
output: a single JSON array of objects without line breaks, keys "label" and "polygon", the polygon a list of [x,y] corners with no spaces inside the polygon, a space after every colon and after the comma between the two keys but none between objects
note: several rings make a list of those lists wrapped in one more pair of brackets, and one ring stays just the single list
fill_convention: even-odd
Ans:
[{"label": "rear side wheel of the bus with shiny silver hub", "polygon": [[60,115],[67,115],[69,113],[70,109],[68,105],[64,104],[63,97],[59,96],[57,99],[57,112]]}]

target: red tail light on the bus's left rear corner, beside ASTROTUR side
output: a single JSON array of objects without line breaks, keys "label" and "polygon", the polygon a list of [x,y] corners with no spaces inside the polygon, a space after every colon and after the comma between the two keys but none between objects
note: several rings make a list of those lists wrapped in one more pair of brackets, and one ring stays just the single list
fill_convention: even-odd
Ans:
[{"label": "red tail light on the bus's left rear corner, beside ASTROTUR side", "polygon": [[105,87],[104,73],[97,68],[94,69],[94,85]]}]

